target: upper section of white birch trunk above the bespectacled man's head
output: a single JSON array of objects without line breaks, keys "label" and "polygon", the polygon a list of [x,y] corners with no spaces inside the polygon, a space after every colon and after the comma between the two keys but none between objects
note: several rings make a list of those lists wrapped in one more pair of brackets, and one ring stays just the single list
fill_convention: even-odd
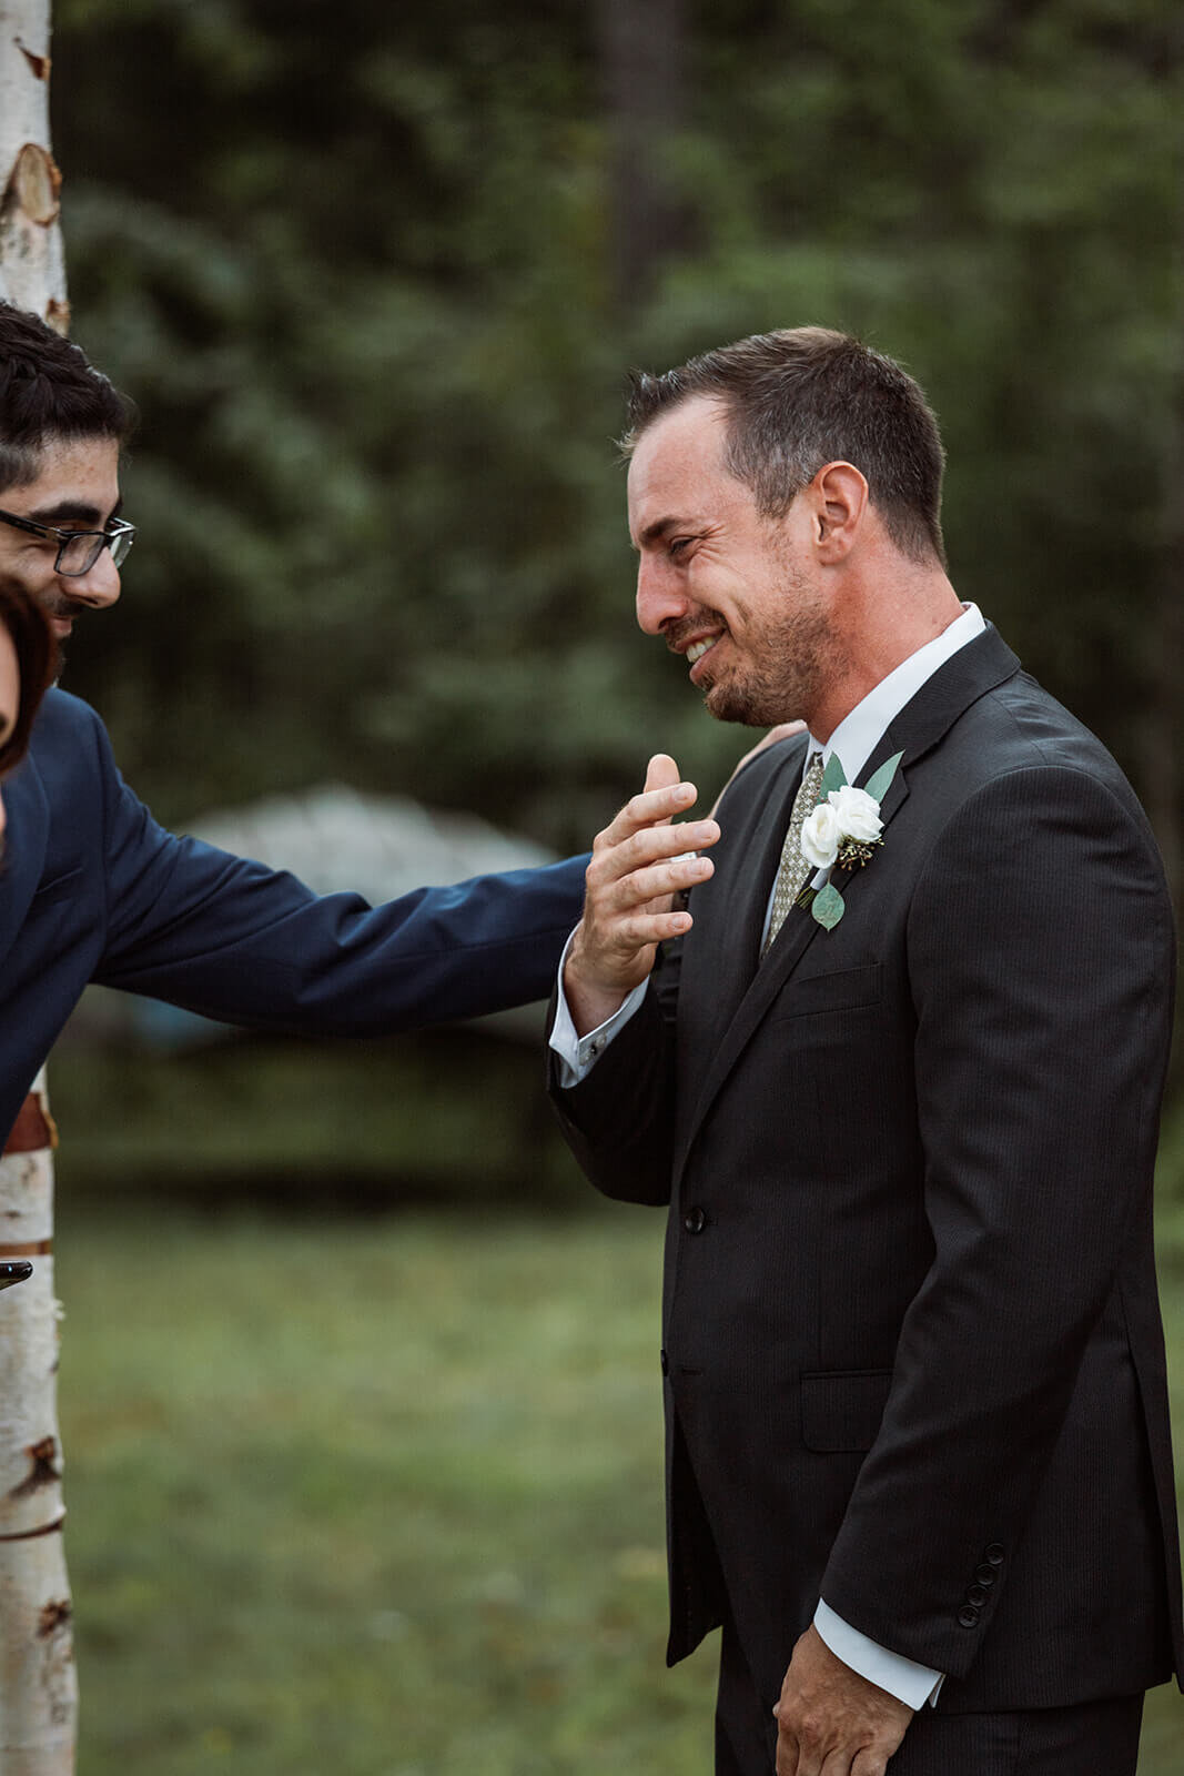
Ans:
[{"label": "upper section of white birch trunk above the bespectacled man's head", "polygon": [[69,330],[50,153],[50,0],[0,0],[0,295]]}]

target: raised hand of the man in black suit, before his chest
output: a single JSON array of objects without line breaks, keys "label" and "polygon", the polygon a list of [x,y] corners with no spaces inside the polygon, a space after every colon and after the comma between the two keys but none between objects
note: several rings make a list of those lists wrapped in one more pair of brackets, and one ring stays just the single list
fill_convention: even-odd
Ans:
[{"label": "raised hand of the man in black suit, before his chest", "polygon": [[588,865],[584,918],[575,927],[563,989],[579,1035],[598,1028],[653,968],[659,943],[691,929],[671,897],[712,874],[712,860],[687,856],[714,845],[714,821],[671,826],[696,799],[678,765],[657,753],[646,787],[596,835]]}]

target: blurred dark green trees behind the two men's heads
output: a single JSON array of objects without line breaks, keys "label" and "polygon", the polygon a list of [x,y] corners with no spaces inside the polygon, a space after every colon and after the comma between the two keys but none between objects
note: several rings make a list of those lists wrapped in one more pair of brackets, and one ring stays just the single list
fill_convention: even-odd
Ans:
[{"label": "blurred dark green trees behind the two men's heads", "polygon": [[59,0],[75,334],[144,410],[142,543],[69,684],[131,780],[183,821],[335,774],[561,847],[659,746],[717,781],[744,737],[632,630],[621,375],[806,320],[918,373],[955,584],[1150,776],[1180,689],[1147,643],[1179,604],[1179,21],[659,0],[683,73],[651,75],[634,188],[612,16]]}]

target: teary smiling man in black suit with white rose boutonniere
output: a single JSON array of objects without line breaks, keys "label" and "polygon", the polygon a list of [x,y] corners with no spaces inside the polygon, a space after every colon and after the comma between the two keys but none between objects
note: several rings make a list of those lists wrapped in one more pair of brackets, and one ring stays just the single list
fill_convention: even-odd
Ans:
[{"label": "teary smiling man in black suit with white rose boutonniere", "polygon": [[809,730],[717,824],[651,762],[554,1019],[582,1165],[669,1201],[669,1659],[722,1623],[721,1776],[1133,1772],[1184,1650],[1156,842],[957,599],[900,366],[747,339],[639,378],[628,455],[643,629]]}]

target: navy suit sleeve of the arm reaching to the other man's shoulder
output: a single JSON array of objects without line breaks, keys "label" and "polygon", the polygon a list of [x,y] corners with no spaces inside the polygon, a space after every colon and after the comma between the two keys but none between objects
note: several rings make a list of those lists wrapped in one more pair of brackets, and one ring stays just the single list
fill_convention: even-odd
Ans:
[{"label": "navy suit sleeve of the arm reaching to the other man's shoulder", "polygon": [[588,858],[371,908],[153,821],[94,723],[107,938],[94,979],[225,1023],[369,1035],[545,1000]]}]

